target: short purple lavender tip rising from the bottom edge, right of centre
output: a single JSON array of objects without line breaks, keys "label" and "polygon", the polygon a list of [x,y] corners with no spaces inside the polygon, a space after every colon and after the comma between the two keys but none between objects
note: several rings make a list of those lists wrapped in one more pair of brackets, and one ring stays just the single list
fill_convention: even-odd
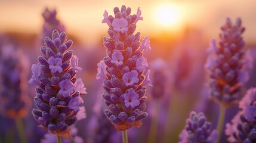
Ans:
[{"label": "short purple lavender tip rising from the bottom edge, right of centre", "polygon": [[206,121],[206,117],[202,112],[197,114],[192,111],[179,137],[179,143],[211,143],[217,140],[218,133],[217,130],[211,130],[211,122]]}]

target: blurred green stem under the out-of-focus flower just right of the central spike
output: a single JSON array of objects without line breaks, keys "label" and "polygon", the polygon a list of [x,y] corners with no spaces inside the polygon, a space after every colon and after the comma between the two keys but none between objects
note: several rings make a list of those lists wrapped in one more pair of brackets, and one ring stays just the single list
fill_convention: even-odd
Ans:
[{"label": "blurred green stem under the out-of-focus flower just right of the central spike", "polygon": [[155,104],[154,114],[150,125],[149,138],[147,142],[153,143],[156,140],[156,131],[158,130],[158,102]]}]

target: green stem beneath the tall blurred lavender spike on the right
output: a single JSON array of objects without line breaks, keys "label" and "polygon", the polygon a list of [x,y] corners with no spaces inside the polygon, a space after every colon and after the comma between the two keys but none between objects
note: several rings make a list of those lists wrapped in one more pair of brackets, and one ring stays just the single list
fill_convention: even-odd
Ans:
[{"label": "green stem beneath the tall blurred lavender spike on the right", "polygon": [[218,115],[218,125],[217,125],[217,130],[218,130],[217,142],[220,142],[224,119],[225,119],[225,112],[226,112],[226,108],[224,107],[224,105],[220,105],[220,113]]}]

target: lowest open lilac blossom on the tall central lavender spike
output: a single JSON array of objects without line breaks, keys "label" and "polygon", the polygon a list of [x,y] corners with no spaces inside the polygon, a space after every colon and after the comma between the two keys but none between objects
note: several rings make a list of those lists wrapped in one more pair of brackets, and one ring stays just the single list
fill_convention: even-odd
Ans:
[{"label": "lowest open lilac blossom on the tall central lavender spike", "polygon": [[132,108],[136,107],[140,104],[140,101],[138,100],[138,94],[135,91],[128,91],[125,94],[125,106],[128,108],[131,106]]}]

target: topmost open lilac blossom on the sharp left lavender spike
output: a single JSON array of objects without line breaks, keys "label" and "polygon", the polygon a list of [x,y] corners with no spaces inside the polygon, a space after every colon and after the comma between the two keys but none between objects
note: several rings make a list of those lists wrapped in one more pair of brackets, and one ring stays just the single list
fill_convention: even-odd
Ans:
[{"label": "topmost open lilac blossom on the sharp left lavender spike", "polygon": [[48,59],[49,68],[51,69],[52,73],[56,73],[57,71],[61,73],[63,69],[62,66],[62,60],[61,58],[54,58],[53,56]]}]

